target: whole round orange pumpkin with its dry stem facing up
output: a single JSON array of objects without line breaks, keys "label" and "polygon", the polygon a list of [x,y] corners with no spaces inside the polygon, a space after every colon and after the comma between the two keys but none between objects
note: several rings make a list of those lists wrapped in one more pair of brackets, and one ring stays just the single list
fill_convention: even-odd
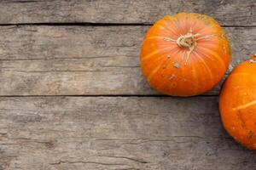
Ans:
[{"label": "whole round orange pumpkin with its dry stem facing up", "polygon": [[152,88],[193,96],[207,92],[224,76],[230,43],[218,22],[207,15],[168,15],[148,30],[140,59]]}]

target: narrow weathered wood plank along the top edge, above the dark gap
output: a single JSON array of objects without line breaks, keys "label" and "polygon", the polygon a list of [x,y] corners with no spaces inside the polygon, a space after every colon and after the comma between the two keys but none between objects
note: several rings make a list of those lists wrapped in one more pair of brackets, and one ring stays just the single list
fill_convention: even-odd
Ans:
[{"label": "narrow weathered wood plank along the top edge, above the dark gap", "polygon": [[0,23],[146,23],[181,11],[212,15],[221,25],[256,26],[254,0],[1,0]]}]

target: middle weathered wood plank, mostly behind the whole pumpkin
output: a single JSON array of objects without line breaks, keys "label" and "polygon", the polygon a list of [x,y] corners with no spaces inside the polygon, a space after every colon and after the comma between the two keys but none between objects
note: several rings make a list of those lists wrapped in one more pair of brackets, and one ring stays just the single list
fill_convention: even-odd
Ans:
[{"label": "middle weathered wood plank, mostly behind the whole pumpkin", "polygon": [[[0,95],[148,95],[139,50],[148,26],[0,27]],[[230,69],[255,53],[256,28],[226,28]],[[215,88],[209,94],[218,94]]]}]

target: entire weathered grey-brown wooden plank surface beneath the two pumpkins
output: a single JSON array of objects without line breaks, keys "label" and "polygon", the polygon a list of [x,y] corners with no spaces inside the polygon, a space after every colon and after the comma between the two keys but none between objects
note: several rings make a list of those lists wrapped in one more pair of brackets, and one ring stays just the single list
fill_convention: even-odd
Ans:
[{"label": "entire weathered grey-brown wooden plank surface beneath the two pumpkins", "polygon": [[0,170],[254,170],[225,133],[218,87],[157,94],[139,68],[165,14],[209,14],[234,66],[256,49],[255,0],[1,0]]}]

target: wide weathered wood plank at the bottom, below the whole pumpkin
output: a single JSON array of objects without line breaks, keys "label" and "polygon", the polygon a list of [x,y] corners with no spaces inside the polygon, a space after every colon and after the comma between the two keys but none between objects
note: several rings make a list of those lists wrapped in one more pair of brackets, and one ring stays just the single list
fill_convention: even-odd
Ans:
[{"label": "wide weathered wood plank at the bottom, below the whole pumpkin", "polygon": [[1,169],[251,170],[217,97],[0,98]]}]

